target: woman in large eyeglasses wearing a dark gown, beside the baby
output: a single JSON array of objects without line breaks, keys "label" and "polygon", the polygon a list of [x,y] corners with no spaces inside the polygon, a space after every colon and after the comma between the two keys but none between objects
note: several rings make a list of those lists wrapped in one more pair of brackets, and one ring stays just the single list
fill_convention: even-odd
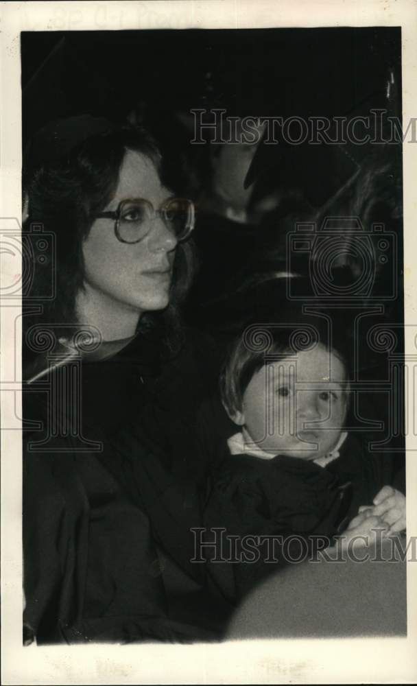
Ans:
[{"label": "woman in large eyeglasses wearing a dark gown, beside the baby", "polygon": [[222,626],[189,563],[204,490],[193,419],[216,364],[178,323],[193,205],[161,174],[145,132],[86,116],[27,154],[27,643],[208,640]]}]

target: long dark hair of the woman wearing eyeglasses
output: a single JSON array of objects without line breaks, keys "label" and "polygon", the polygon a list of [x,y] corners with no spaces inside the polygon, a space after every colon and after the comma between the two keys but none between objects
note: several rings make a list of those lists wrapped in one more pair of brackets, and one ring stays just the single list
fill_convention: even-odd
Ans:
[{"label": "long dark hair of the woman wearing eyeglasses", "polygon": [[[71,121],[70,130],[71,130]],[[93,119],[88,118],[88,126]],[[98,120],[103,121],[103,120]],[[67,127],[68,128],[68,127]],[[132,126],[108,125],[108,130],[82,139],[75,145],[62,143],[52,154],[45,150],[47,161],[38,161],[39,152],[27,155],[23,167],[23,191],[28,216],[23,224],[23,240],[27,241],[32,260],[32,283],[23,298],[27,303],[41,303],[42,312],[24,317],[24,330],[33,324],[53,325],[55,333],[65,335],[67,324],[77,325],[76,296],[84,283],[82,243],[93,224],[94,217],[104,210],[115,193],[119,170],[128,150],[139,152],[152,160],[161,179],[164,169],[156,142],[145,130]],[[103,128],[100,126],[99,128]],[[106,128],[106,127],[104,127]],[[45,137],[44,137],[45,138]],[[54,141],[56,147],[56,141]],[[59,144],[59,141],[58,141]],[[36,150],[39,150],[39,143]],[[69,147],[69,150],[66,149]],[[42,150],[40,151],[42,156]],[[50,252],[40,261],[37,245],[41,228],[43,235],[53,236],[48,243]],[[45,259],[46,258],[46,259]],[[193,275],[193,246],[190,241],[178,244],[174,261],[169,306],[161,312],[147,313],[139,326],[143,330],[163,329],[171,348],[178,345],[178,305],[187,292]],[[51,276],[54,294],[50,297]],[[67,331],[68,329],[66,329]]]}]

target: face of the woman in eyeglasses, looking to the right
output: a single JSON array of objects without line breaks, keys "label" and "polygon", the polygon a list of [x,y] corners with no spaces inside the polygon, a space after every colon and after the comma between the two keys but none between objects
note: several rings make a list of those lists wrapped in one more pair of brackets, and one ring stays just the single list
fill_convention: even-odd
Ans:
[{"label": "face of the woman in eyeglasses, looking to the right", "polygon": [[[129,150],[121,165],[115,196],[104,211],[117,210],[121,200],[145,198],[155,209],[170,193],[160,182],[154,163]],[[150,233],[135,244],[121,243],[115,221],[96,219],[83,244],[84,283],[97,308],[129,309],[139,316],[163,309],[169,302],[176,238],[158,215]]]}]

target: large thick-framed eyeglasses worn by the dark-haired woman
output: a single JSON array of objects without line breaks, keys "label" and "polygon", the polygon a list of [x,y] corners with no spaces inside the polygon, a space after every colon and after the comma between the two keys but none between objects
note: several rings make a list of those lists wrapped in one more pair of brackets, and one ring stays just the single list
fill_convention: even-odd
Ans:
[{"label": "large thick-framed eyeglasses worn by the dark-haired woman", "polygon": [[184,198],[168,198],[157,210],[144,198],[121,200],[117,210],[102,212],[96,218],[115,220],[115,235],[121,243],[139,243],[150,233],[156,215],[177,241],[187,239],[194,228],[194,204]]}]

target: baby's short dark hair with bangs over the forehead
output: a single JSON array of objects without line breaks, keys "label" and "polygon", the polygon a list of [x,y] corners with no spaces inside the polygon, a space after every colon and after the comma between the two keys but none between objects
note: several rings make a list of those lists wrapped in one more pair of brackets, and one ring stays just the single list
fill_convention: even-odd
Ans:
[{"label": "baby's short dark hair with bangs over the forehead", "polygon": [[220,392],[229,416],[241,412],[243,395],[250,380],[267,362],[313,350],[318,345],[324,346],[344,365],[347,400],[349,368],[342,344],[332,340],[326,331],[329,320],[309,319],[297,324],[251,324],[235,338],[220,375]]}]

